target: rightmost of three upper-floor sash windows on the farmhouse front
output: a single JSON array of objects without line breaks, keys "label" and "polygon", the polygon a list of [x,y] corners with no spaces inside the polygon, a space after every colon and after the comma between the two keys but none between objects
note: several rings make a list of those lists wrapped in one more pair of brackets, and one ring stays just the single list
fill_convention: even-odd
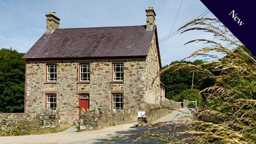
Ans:
[{"label": "rightmost of three upper-floor sash windows on the farmhouse front", "polygon": [[113,81],[123,81],[123,63],[114,63],[113,64]]}]

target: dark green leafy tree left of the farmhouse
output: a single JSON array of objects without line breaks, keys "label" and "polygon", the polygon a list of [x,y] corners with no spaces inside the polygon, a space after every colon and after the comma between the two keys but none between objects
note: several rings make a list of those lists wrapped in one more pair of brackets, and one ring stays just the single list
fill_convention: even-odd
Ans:
[{"label": "dark green leafy tree left of the farmhouse", "polygon": [[24,110],[24,53],[12,48],[0,49],[0,112],[20,113]]}]

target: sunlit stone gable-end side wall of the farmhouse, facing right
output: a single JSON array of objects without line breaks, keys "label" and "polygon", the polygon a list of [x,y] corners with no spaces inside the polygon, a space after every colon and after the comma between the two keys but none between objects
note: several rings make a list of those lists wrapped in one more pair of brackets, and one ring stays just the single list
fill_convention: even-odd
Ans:
[{"label": "sunlit stone gable-end side wall of the farmhouse, facing right", "polygon": [[160,86],[160,77],[154,81],[155,77],[159,73],[160,66],[159,66],[159,59],[158,59],[158,52],[157,52],[157,41],[155,38],[155,34],[152,38],[150,52],[148,53],[147,60],[146,60],[146,95],[145,95],[145,102],[152,103],[155,105],[159,105],[161,101],[161,86]]}]

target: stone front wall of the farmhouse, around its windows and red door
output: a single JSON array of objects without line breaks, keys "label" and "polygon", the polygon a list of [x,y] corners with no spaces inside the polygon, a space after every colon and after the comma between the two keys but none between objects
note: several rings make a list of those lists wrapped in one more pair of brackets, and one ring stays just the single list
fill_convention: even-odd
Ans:
[{"label": "stone front wall of the farmhouse, around its windows and red door", "polygon": [[[46,63],[56,63],[57,81],[46,82]],[[27,61],[26,113],[39,113],[46,107],[46,93],[56,93],[61,123],[79,118],[79,93],[90,93],[90,109],[112,109],[112,93],[123,93],[123,109],[134,109],[145,96],[145,59],[87,60],[90,82],[79,82],[79,60]],[[112,82],[112,63],[124,63],[124,81]]]}]

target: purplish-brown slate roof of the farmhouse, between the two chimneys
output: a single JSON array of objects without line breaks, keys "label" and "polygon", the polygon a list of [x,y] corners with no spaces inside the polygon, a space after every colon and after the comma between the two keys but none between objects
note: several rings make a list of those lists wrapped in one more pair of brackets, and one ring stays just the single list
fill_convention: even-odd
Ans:
[{"label": "purplish-brown slate roof of the farmhouse, between the two chimneys", "polygon": [[23,58],[147,56],[155,29],[147,31],[146,26],[60,28],[42,35]]}]

